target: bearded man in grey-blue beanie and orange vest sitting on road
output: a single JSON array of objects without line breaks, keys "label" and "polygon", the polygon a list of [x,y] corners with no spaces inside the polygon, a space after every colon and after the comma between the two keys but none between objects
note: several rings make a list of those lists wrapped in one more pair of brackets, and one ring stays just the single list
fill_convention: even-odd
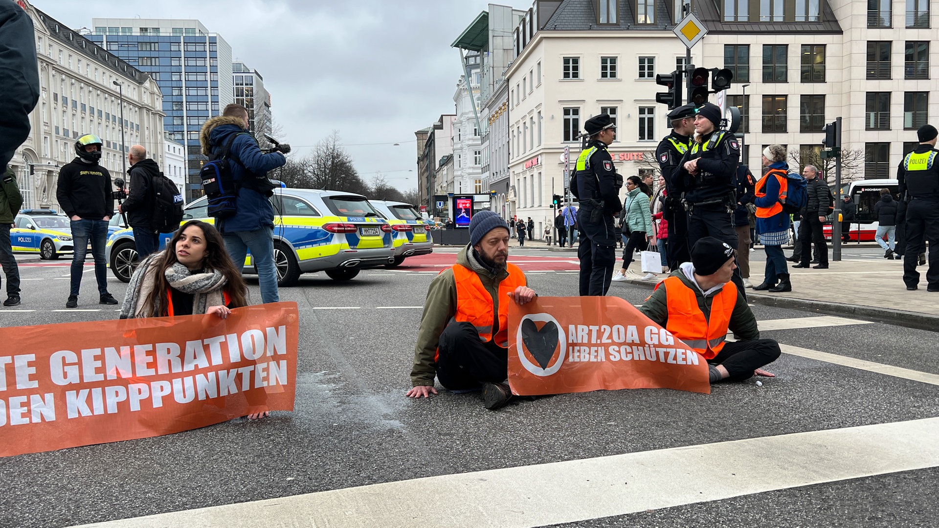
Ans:
[{"label": "bearded man in grey-blue beanie and orange vest sitting on road", "polygon": [[436,395],[436,374],[451,391],[482,385],[486,409],[498,409],[512,397],[506,383],[509,303],[528,303],[536,295],[508,256],[505,221],[489,210],[474,214],[469,245],[427,290],[407,396]]}]

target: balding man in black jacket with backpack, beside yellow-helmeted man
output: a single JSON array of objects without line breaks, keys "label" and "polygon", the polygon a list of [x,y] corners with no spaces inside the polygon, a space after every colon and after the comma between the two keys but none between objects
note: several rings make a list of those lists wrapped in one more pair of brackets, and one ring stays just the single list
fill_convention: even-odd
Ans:
[{"label": "balding man in black jacket with backpack, beside yellow-helmeted man", "polygon": [[127,223],[133,229],[133,242],[137,246],[137,261],[155,253],[160,247],[160,233],[153,227],[153,178],[160,176],[160,165],[146,157],[146,148],[131,147],[127,155],[131,163],[131,193],[117,212],[127,213]]}]

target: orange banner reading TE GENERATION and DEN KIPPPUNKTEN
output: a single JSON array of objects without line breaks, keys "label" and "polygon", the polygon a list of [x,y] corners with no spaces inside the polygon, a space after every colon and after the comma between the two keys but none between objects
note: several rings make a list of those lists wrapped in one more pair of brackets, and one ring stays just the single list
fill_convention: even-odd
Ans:
[{"label": "orange banner reading TE GENERATION and DEN KIPPPUNKTEN", "polygon": [[0,329],[0,456],[293,411],[297,303]]}]

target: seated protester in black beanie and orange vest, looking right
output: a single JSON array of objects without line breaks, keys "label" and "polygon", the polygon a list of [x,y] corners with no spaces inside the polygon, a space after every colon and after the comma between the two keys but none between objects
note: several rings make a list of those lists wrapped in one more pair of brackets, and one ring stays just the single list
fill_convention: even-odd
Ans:
[{"label": "seated protester in black beanie and orange vest, looking right", "polygon": [[[691,262],[660,282],[639,308],[704,357],[712,383],[772,376],[760,367],[779,357],[779,344],[760,339],[757,319],[731,282],[734,254],[726,242],[701,238],[691,248]],[[725,342],[728,330],[740,340]]]}]

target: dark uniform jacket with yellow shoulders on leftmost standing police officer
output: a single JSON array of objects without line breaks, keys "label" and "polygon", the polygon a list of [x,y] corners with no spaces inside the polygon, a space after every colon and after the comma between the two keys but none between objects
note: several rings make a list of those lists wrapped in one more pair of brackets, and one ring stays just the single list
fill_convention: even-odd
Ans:
[{"label": "dark uniform jacket with yellow shoulders on leftmost standing police officer", "polygon": [[[600,140],[594,139],[587,144],[587,149],[577,158],[577,199],[581,209],[593,210],[594,202],[603,201],[604,210],[608,213],[617,213],[623,210],[620,201],[620,187],[623,180],[616,174],[613,158],[609,155],[607,146]],[[619,185],[617,185],[619,183]]]}]

